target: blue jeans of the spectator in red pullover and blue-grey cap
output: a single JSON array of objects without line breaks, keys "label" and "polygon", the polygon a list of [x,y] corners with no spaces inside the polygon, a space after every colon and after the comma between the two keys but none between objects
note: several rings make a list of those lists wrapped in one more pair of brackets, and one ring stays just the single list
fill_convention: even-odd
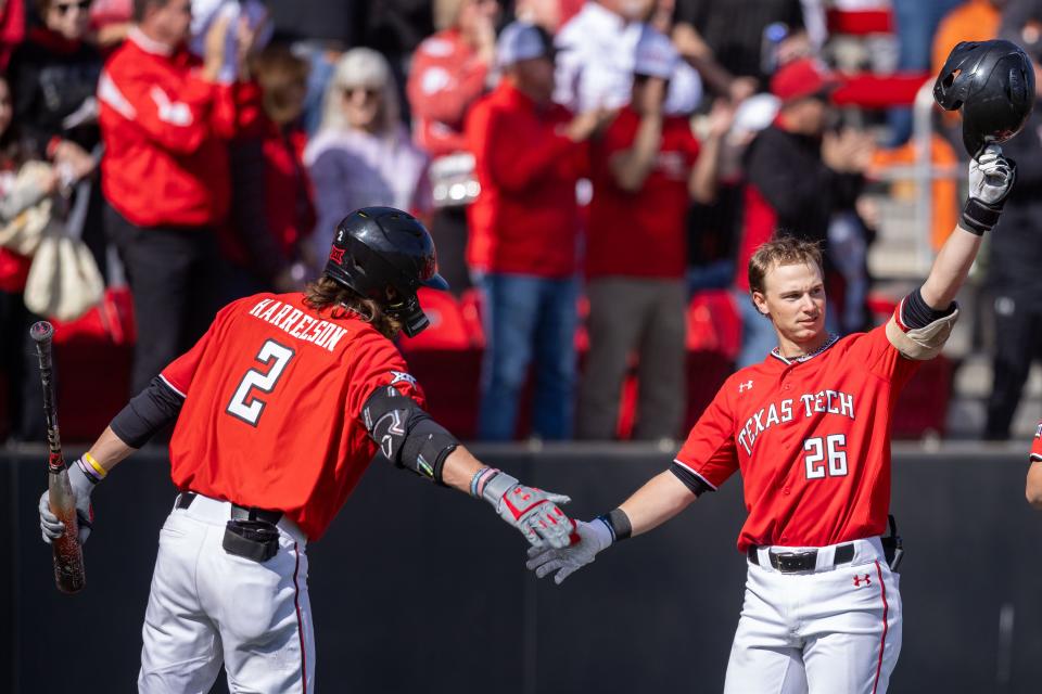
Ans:
[{"label": "blue jeans of the spectator in red pullover and blue-grey cap", "polygon": [[571,438],[577,281],[499,273],[475,280],[485,329],[478,437],[492,441],[514,437],[521,391],[534,357],[532,433],[546,440]]}]

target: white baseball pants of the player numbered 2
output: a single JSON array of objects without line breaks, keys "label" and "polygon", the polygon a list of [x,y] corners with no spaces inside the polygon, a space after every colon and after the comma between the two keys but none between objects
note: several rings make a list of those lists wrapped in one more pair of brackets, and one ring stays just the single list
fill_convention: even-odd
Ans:
[{"label": "white baseball pants of the player numbered 2", "polygon": [[198,496],[160,531],[141,694],[206,694],[221,663],[233,694],[314,692],[306,538],[283,517],[279,552],[260,564],[221,548],[230,517],[228,502]]}]

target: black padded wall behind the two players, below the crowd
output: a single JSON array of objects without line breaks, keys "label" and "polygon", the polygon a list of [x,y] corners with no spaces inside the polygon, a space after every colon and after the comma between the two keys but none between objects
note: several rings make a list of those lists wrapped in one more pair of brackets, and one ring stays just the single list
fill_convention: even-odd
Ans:
[{"label": "black padded wall behind the two players, below the crowd", "polygon": [[[610,510],[671,459],[625,446],[475,452],[571,494],[581,518]],[[1024,501],[1026,467],[1013,449],[895,449],[892,509],[907,555],[891,692],[1039,691],[1042,513]],[[94,493],[87,589],[76,596],[54,589],[40,542],[45,477],[42,451],[0,458],[0,692],[134,692],[156,539],[175,496],[166,459],[138,453]],[[745,576],[736,481],[555,587],[524,570],[524,540],[485,503],[373,467],[308,547],[317,691],[720,692]]]}]

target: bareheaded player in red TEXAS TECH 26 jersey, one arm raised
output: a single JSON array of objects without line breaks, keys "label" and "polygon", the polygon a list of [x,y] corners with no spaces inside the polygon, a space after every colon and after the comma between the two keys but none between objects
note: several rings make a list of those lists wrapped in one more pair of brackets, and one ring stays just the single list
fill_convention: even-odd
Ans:
[{"label": "bareheaded player in red TEXAS TECH 26 jersey, one arm raised", "polygon": [[751,298],[778,346],[733,374],[669,471],[621,506],[579,524],[568,549],[530,550],[560,583],[611,544],[669,520],[741,473],[748,518],[746,600],[726,694],[887,689],[901,650],[901,597],[880,536],[890,502],[890,419],[901,388],[937,355],[953,303],[997,220],[1013,168],[996,145],[970,164],[960,226],[922,287],[886,325],[837,338],[825,330],[817,246],[771,241],[749,261]]}]

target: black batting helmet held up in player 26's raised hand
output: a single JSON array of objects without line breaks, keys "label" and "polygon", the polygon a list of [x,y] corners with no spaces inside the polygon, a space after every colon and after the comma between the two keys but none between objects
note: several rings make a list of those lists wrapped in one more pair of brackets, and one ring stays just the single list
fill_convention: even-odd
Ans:
[{"label": "black batting helmet held up in player 26's raised hand", "polygon": [[1034,68],[1011,41],[963,41],[948,54],[933,99],[945,111],[962,111],[963,144],[976,157],[1024,127],[1034,105]]}]

